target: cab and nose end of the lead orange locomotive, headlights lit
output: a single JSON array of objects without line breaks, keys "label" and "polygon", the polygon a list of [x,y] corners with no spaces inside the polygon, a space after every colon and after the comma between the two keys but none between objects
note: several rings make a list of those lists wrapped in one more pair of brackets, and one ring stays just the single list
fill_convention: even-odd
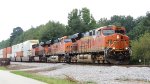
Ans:
[{"label": "cab and nose end of the lead orange locomotive, headlights lit", "polygon": [[124,27],[108,26],[102,29],[104,37],[104,55],[108,62],[128,64],[131,54],[129,37],[125,35]]}]

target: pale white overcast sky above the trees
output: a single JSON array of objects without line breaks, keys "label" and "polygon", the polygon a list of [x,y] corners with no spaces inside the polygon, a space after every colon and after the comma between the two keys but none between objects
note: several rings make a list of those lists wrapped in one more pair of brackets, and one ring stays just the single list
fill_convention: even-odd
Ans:
[{"label": "pale white overcast sky above the trees", "polygon": [[150,0],[0,0],[0,41],[9,38],[13,28],[23,30],[49,20],[67,24],[72,9],[87,7],[96,20],[112,15],[134,18],[150,11]]}]

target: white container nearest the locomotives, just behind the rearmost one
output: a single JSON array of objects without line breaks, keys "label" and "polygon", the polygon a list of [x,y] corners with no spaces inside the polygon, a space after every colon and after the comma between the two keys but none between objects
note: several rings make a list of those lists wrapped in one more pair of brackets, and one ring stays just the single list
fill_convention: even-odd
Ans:
[{"label": "white container nearest the locomotives, just behind the rearmost one", "polygon": [[28,40],[23,42],[23,56],[32,56],[32,45],[38,44],[39,40]]}]

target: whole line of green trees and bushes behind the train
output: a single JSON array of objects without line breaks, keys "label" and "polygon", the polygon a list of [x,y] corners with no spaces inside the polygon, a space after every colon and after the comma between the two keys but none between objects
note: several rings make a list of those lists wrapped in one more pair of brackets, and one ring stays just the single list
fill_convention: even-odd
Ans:
[{"label": "whole line of green trees and bushes behind the train", "polygon": [[126,33],[132,40],[132,59],[135,62],[139,59],[150,59],[150,49],[148,48],[150,47],[149,12],[146,13],[146,16],[139,16],[136,19],[132,16],[113,15],[110,19],[100,18],[96,21],[89,9],[73,9],[68,14],[67,25],[49,21],[48,23],[35,28],[32,27],[27,31],[23,31],[21,27],[16,27],[13,29],[10,38],[0,42],[0,48],[12,46],[30,39],[48,41],[65,35],[68,36],[77,32],[86,32],[88,30],[107,25],[124,26],[126,28]]}]

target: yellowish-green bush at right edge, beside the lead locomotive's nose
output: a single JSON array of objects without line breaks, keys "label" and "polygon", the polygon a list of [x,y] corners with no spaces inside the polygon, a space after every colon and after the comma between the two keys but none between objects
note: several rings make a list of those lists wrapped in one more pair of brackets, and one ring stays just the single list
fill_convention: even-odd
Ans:
[{"label": "yellowish-green bush at right edge, beside the lead locomotive's nose", "polygon": [[138,62],[139,59],[150,60],[150,33],[145,33],[138,40],[132,41],[132,60]]}]

